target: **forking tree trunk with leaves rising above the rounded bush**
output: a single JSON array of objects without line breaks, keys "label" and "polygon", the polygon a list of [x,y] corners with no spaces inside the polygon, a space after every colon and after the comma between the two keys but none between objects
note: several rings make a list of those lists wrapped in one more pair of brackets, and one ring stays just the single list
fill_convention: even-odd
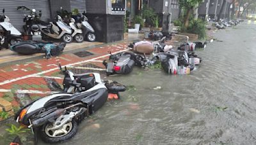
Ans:
[{"label": "forking tree trunk with leaves rising above the rounded bush", "polygon": [[184,27],[187,28],[189,24],[189,16],[196,6],[199,6],[203,0],[179,0],[180,8],[186,11]]}]

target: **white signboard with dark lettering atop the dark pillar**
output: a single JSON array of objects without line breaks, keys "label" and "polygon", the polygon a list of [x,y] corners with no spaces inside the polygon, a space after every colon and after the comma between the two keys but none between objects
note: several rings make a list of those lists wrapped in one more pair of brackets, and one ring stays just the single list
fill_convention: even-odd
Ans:
[{"label": "white signboard with dark lettering atop the dark pillar", "polygon": [[126,14],[126,0],[111,0],[111,14],[125,15]]}]

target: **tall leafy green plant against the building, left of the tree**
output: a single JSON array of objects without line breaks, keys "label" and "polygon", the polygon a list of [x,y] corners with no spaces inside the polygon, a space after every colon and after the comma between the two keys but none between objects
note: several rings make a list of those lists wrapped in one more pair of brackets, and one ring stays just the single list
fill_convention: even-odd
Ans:
[{"label": "tall leafy green plant against the building, left of the tree", "polygon": [[156,23],[156,13],[153,8],[150,8],[146,4],[143,5],[143,8],[141,10],[142,17],[146,19],[146,24],[148,25],[154,25]]}]

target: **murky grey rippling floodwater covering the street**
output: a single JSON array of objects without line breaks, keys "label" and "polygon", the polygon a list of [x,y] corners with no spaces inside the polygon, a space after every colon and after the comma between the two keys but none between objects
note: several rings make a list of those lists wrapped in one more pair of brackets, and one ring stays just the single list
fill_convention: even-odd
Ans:
[{"label": "murky grey rippling floodwater covering the street", "polygon": [[256,25],[213,36],[218,41],[196,52],[204,60],[189,75],[134,69],[109,77],[129,90],[62,144],[256,144]]}]

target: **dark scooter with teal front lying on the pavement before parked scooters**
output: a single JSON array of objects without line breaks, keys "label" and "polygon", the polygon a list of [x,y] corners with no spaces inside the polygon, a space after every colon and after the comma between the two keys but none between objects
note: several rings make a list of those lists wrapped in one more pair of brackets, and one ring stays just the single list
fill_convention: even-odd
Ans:
[{"label": "dark scooter with teal front lying on the pavement before parked scooters", "polygon": [[35,41],[21,41],[12,45],[10,50],[22,55],[31,55],[35,53],[45,53],[45,57],[49,59],[51,56],[58,56],[63,52],[66,43],[54,44]]}]

